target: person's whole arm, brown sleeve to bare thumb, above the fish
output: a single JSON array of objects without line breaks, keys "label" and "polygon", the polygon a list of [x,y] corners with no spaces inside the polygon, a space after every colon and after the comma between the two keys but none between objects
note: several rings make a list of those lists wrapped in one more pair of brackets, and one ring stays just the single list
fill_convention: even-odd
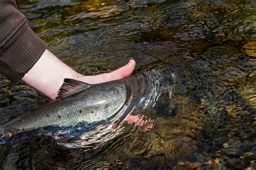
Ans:
[{"label": "person's whole arm, brown sleeve to bare thumb, above the fish", "polygon": [[[14,0],[0,1],[0,73],[12,82],[22,79],[51,99],[55,99],[64,78],[102,83],[129,76],[135,66],[127,65],[96,76],[78,74],[46,49],[46,44],[30,29]],[[45,50],[46,49],[46,50]]]}]

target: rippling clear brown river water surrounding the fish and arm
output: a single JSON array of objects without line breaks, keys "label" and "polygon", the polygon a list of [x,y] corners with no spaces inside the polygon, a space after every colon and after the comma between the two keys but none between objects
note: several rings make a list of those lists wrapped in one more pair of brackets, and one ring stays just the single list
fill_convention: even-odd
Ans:
[{"label": "rippling clear brown river water surrounding the fish and arm", "polygon": [[[171,103],[140,113],[151,130],[122,133],[86,148],[29,136],[1,146],[2,168],[255,169],[254,1],[18,1],[49,49],[82,74],[110,72],[130,58],[134,73],[171,67]],[[48,100],[0,76],[0,118]],[[170,103],[169,103],[170,104]]]}]

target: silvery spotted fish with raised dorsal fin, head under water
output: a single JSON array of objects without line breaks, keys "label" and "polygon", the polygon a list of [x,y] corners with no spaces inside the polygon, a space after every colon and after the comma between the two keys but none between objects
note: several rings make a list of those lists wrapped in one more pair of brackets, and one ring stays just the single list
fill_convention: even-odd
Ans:
[{"label": "silvery spotted fish with raised dorsal fin, head under water", "polygon": [[122,120],[138,107],[152,107],[159,94],[166,90],[171,96],[170,81],[159,70],[99,84],[64,79],[56,100],[4,123],[0,126],[0,135],[71,128],[78,124],[86,124],[90,130]]}]

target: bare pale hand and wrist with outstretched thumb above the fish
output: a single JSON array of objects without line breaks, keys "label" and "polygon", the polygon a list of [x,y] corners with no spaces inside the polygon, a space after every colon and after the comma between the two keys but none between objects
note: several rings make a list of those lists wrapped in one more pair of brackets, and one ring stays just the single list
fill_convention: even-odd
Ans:
[{"label": "bare pale hand and wrist with outstretched thumb above the fish", "polygon": [[131,75],[135,64],[134,60],[130,60],[127,65],[114,70],[111,73],[84,76],[65,65],[65,63],[60,61],[54,54],[46,49],[36,64],[24,75],[22,81],[54,100],[57,97],[58,90],[60,86],[62,86],[65,78],[75,79],[90,84],[119,80]]}]

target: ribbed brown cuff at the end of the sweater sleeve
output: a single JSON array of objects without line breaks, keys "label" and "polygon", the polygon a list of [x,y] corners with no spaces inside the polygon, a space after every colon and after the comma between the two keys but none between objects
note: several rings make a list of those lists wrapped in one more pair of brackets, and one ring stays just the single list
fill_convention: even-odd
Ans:
[{"label": "ribbed brown cuff at the end of the sweater sleeve", "polygon": [[47,45],[25,23],[0,49],[0,73],[17,82],[42,56]]}]

